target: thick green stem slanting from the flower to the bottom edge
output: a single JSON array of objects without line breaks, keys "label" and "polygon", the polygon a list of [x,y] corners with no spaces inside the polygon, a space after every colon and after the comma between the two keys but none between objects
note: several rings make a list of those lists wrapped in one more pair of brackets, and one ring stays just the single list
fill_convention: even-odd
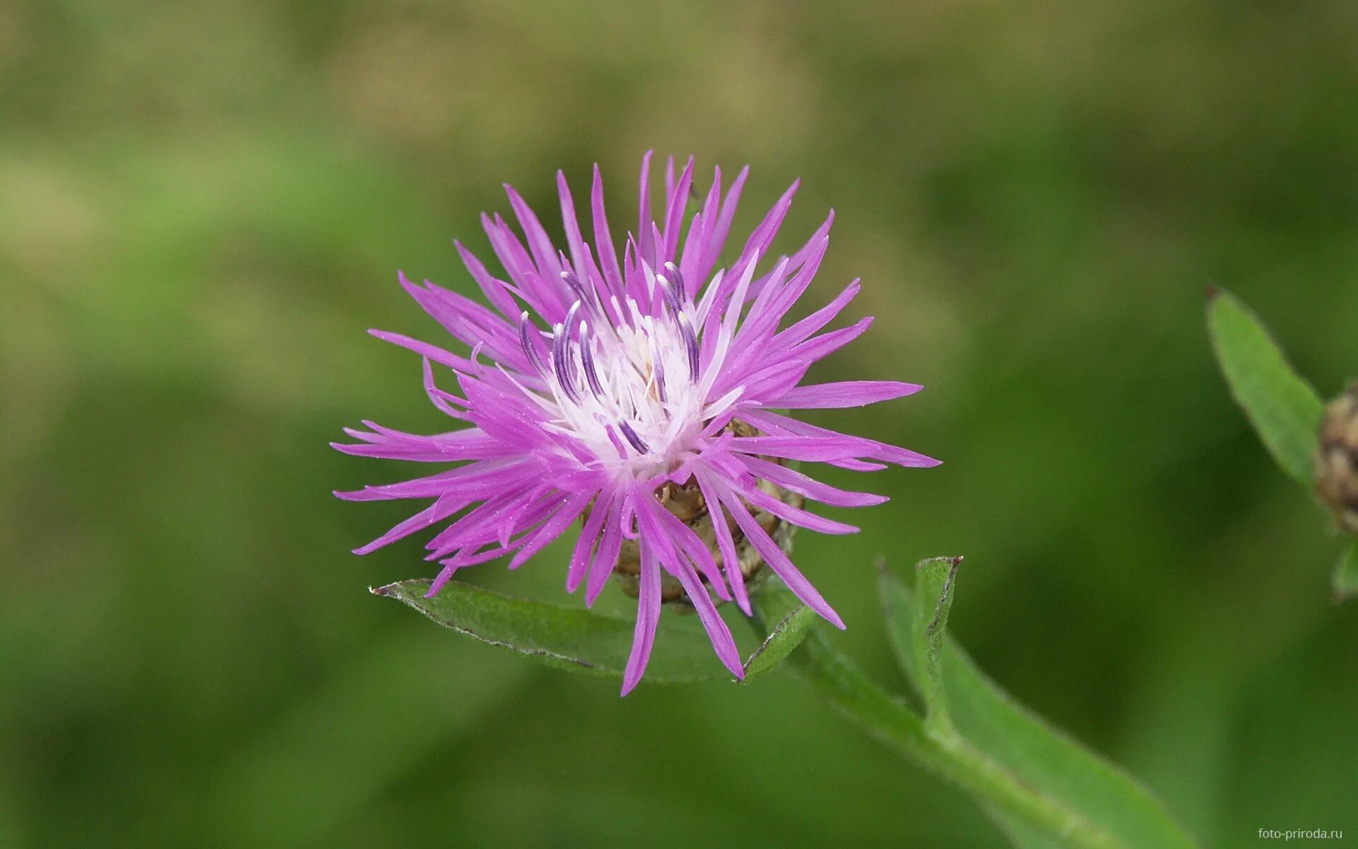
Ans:
[{"label": "thick green stem slanting from the flower to the bottom edge", "polygon": [[926,725],[837,652],[819,628],[793,652],[794,668],[845,716],[907,758],[975,795],[987,807],[1032,825],[1066,846],[1131,849],[1059,801],[1023,784],[949,724]]}]

